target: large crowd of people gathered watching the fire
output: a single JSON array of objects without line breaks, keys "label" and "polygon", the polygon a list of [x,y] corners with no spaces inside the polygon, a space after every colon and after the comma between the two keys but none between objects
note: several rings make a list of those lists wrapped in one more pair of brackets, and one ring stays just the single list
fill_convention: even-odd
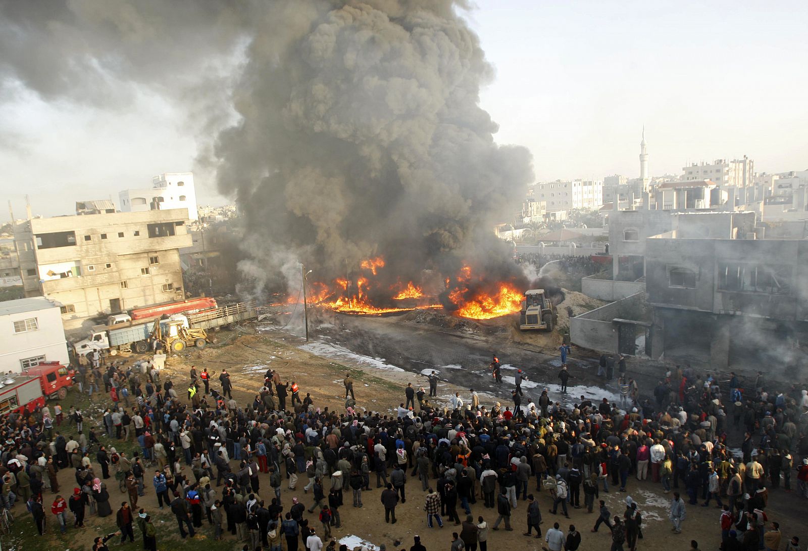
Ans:
[{"label": "large crowd of people gathered watching the fire", "polygon": [[[49,517],[45,490],[55,494],[50,516],[62,532],[69,528],[68,512],[80,529],[87,515],[112,516],[116,508],[116,532],[96,538],[94,551],[105,551],[117,536],[133,541],[136,524],[143,548],[158,549],[154,511],[137,506],[150,491],[158,508],[174,515],[183,539],[207,523],[210,536],[229,532],[248,551],[344,549],[332,531],[341,526],[345,494],[359,508],[372,490],[379,490],[375,499],[387,523],[398,522],[402,507],[423,507],[425,530],[440,530],[444,519],[453,523],[452,551],[486,551],[496,538],[492,532],[517,525],[551,551],[575,551],[582,536],[574,524],[565,531],[554,522],[542,533],[542,494],[552,503],[547,514],[570,518],[570,508],[586,509],[591,532],[605,525],[613,550],[633,551],[642,539],[643,511],[629,495],[632,477],[672,492],[674,534],[688,532],[690,507],[714,502],[722,510],[715,539],[723,551],[780,549],[779,524],[767,512],[770,495],[792,491],[796,478],[800,498],[808,498],[808,391],[795,384],[768,392],[762,374],[744,392],[737,376],[719,384],[690,367],[677,368],[659,381],[653,399],[633,395],[623,409],[585,396],[565,408],[547,391],[537,403],[513,410],[481,404],[473,391],[467,400],[458,392],[451,405],[437,407],[423,400],[423,388],[416,393],[408,386],[406,402],[385,415],[357,408],[350,375],[344,408],[336,411],[316,407],[310,394],[301,399],[297,383],[274,370],[248,403],[240,403],[227,371],[214,377],[192,367],[187,392],[179,394],[148,362],[93,363],[78,367],[78,388],[93,394],[103,385],[107,439],[131,439],[139,451],[128,457],[104,446],[79,410],[65,415],[55,405],[6,414],[0,504],[25,502],[40,534]],[[624,366],[618,362],[623,377]],[[435,374],[429,382],[431,396]],[[746,435],[735,451],[727,434],[741,430],[742,422]],[[66,499],[60,469],[74,473]],[[112,477],[128,492],[120,507],[107,489]],[[410,482],[407,492],[410,477],[418,484],[414,489]],[[302,485],[311,497],[287,502],[284,485]],[[625,511],[609,511],[600,499],[609,491],[625,493]],[[407,505],[408,498],[417,505]],[[518,511],[524,511],[521,519]],[[798,537],[790,541],[789,551],[796,550]],[[410,551],[421,549],[416,536]]]}]

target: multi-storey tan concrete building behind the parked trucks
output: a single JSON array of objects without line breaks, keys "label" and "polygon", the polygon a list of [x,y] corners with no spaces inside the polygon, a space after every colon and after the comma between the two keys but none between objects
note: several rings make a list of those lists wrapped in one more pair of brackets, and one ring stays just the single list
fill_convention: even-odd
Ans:
[{"label": "multi-storey tan concrete building behind the parked trucks", "polygon": [[15,224],[25,294],[61,303],[65,328],[184,299],[187,210],[34,218]]}]

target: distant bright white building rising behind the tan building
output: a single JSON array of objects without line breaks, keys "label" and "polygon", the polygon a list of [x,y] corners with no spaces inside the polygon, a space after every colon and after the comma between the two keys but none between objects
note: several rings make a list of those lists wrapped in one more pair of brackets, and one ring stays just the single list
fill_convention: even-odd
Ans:
[{"label": "distant bright white building rising behind the tan building", "polygon": [[150,188],[124,189],[118,197],[121,212],[187,209],[189,220],[199,218],[193,172],[166,172],[154,176]]}]

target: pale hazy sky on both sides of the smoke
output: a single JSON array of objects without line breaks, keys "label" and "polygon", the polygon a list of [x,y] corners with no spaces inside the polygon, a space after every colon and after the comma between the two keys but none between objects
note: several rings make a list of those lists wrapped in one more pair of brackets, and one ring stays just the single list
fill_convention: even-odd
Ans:
[{"label": "pale hazy sky on both sides of the smoke", "polygon": [[[532,151],[537,180],[638,176],[643,124],[651,174],[743,155],[758,172],[808,169],[805,0],[479,0],[469,21],[496,70],[482,106],[499,142]],[[18,218],[25,193],[35,214],[72,214],[161,172],[195,170],[200,204],[227,201],[194,166],[200,121],[173,101],[0,91],[0,189]]]}]

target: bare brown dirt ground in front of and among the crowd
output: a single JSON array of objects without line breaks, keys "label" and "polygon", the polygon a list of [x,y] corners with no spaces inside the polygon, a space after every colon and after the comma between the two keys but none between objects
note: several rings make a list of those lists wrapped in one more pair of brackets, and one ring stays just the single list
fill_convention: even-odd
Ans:
[{"label": "bare brown dirt ground in front of and among the crowd", "polygon": [[[301,339],[285,333],[254,333],[242,334],[237,337],[235,334],[223,332],[220,333],[219,337],[220,345],[208,346],[203,350],[192,350],[189,354],[171,356],[167,359],[164,376],[170,377],[175,382],[178,391],[183,390],[184,385],[189,382],[190,379],[187,374],[191,365],[196,365],[198,370],[201,370],[202,367],[208,367],[208,371],[216,371],[217,374],[222,369],[227,369],[234,380],[234,396],[239,402],[243,403],[251,401],[252,396],[255,395],[263,382],[263,372],[267,370],[267,367],[274,367],[280,369],[283,379],[297,380],[303,394],[311,392],[316,406],[324,407],[327,405],[330,408],[340,410],[343,408],[342,377],[347,370],[350,370],[351,375],[356,379],[357,405],[360,408],[390,413],[393,411],[393,407],[403,400],[403,388],[406,382],[425,380],[423,378],[419,379],[419,375],[410,372],[385,368],[383,364],[372,365],[366,362],[354,362],[350,354],[344,354],[337,347],[334,347],[335,358],[339,358],[339,361],[324,358],[322,357],[322,347],[326,347],[327,350],[327,347],[330,346],[327,343],[321,343],[319,345],[321,348],[319,349],[312,349],[316,350],[319,355],[311,354],[306,350],[301,350],[301,345],[304,345]],[[137,357],[128,356],[120,357],[119,359],[133,362]],[[213,388],[218,388],[217,384],[214,384]],[[457,390],[462,389],[457,388]],[[455,388],[452,385],[440,384],[439,395],[444,396],[442,400],[451,396],[454,391]],[[481,396],[481,400],[484,405],[490,405],[490,398],[487,396]],[[103,402],[103,400],[95,402],[95,411],[99,411],[103,407]],[[98,421],[96,418],[93,422]],[[67,433],[69,433],[69,430],[65,430],[65,434]],[[119,450],[127,449],[128,447],[128,445],[121,445],[114,440],[105,441],[104,443],[107,446],[117,444]],[[100,468],[97,466],[96,468],[98,469],[97,472],[100,473]],[[62,485],[62,493],[65,496],[69,495],[74,487],[73,473],[69,472],[69,470],[63,470],[59,473],[59,480]],[[299,498],[306,505],[311,504],[310,494],[305,495],[302,491],[305,483],[306,478],[304,476],[298,481],[296,490],[289,490],[284,484],[282,502],[285,508],[291,505],[292,497]],[[434,481],[432,483],[434,484]],[[107,485],[112,496],[111,504],[114,513],[120,506],[120,501],[125,498],[125,494],[120,494],[117,490],[114,478],[107,480]],[[328,489],[330,481],[326,481],[325,486]],[[268,487],[268,476],[261,477],[259,495],[266,498],[267,501],[271,498],[270,492],[267,491]],[[373,545],[385,544],[386,548],[392,551],[393,549],[409,549],[413,545],[412,537],[417,534],[421,536],[423,545],[430,551],[449,548],[452,532],[459,532],[457,530],[459,527],[456,528],[447,524],[442,529],[437,528],[437,526],[432,529],[427,528],[426,516],[423,513],[424,494],[415,478],[410,478],[407,485],[409,498],[406,503],[399,504],[396,509],[398,523],[395,525],[384,523],[384,510],[380,502],[381,490],[377,490],[373,483],[371,483],[371,487],[372,491],[363,493],[364,507],[362,508],[351,506],[350,492],[345,495],[345,506],[339,510],[343,527],[333,530],[333,536],[337,539],[358,536]],[[783,537],[790,538],[794,533],[797,533],[808,538],[808,533],[794,532],[797,529],[805,532],[805,524],[800,523],[799,519],[793,518],[792,515],[785,511],[787,502],[779,501],[781,495],[783,495],[782,490],[780,490],[780,493],[774,491],[772,494],[769,511],[773,519],[781,522]],[[563,517],[560,509],[558,515],[549,513],[548,509],[552,502],[547,492],[537,493],[537,495],[539,496],[541,514],[544,519],[541,525],[542,533],[545,533],[554,521],[558,521],[565,531],[570,523],[574,523],[583,537],[580,549],[608,549],[610,545],[608,530],[602,529],[596,534],[590,532],[590,528],[595,523],[596,512],[587,514],[585,509],[574,509],[570,506],[571,518],[568,520]],[[630,495],[638,502],[644,519],[643,532],[645,539],[640,540],[638,549],[650,549],[653,546],[655,549],[662,551],[667,551],[668,549],[680,551],[688,549],[691,539],[698,540],[701,549],[715,549],[718,546],[720,536],[718,529],[719,511],[712,506],[709,508],[688,506],[688,517],[684,522],[682,534],[673,535],[671,534],[671,524],[667,519],[667,506],[671,496],[663,495],[660,485],[631,479],[628,494],[615,491],[609,494],[600,494],[601,498],[607,502],[612,515],[622,515],[622,512],[625,511],[624,500],[627,495]],[[46,494],[46,505],[49,505],[51,499],[52,496]],[[157,519],[155,524],[158,528],[158,549],[161,549],[161,551],[188,549],[189,545],[179,540],[176,523],[170,512],[167,509],[166,511],[158,511],[154,489],[149,484],[146,485],[146,495],[140,498],[138,506],[144,506],[146,511]],[[499,551],[499,549],[541,549],[540,544],[543,544],[543,540],[528,539],[528,537],[522,535],[526,528],[526,508],[526,502],[520,501],[514,515],[511,517],[513,532],[504,531],[503,526],[500,526],[499,532],[490,532],[489,549],[494,551]],[[48,509],[47,506],[46,509]],[[781,509],[783,510],[781,511]],[[23,515],[24,506],[16,506],[15,510],[18,515]],[[461,515],[461,519],[465,518],[465,513],[462,510],[459,510],[458,513]],[[482,500],[472,506],[472,513],[474,519],[477,519],[478,515],[482,515],[490,524],[494,523],[497,516],[495,510],[486,509],[482,506]],[[23,517],[25,516],[28,516],[27,513],[23,515]],[[99,519],[98,517],[88,518],[86,520],[87,528],[82,531],[70,528],[66,536],[59,536],[58,530],[54,534],[53,527],[55,524],[53,523],[53,518],[49,518],[48,522],[51,528],[48,547],[42,549],[90,549],[93,537],[116,529],[114,518],[114,516],[105,519]],[[309,515],[308,518],[314,519],[314,515]],[[21,524],[25,526],[25,523]],[[322,527],[319,523],[315,524],[318,528],[318,534],[322,536]],[[30,535],[33,529],[30,521],[27,526],[27,532],[25,533]],[[134,545],[139,548],[140,535],[137,533],[137,526],[135,527],[135,532],[136,543]],[[36,532],[33,533],[36,534]],[[225,541],[214,542],[209,539],[212,534],[212,528],[205,522],[203,528],[200,528],[200,536],[195,544],[198,551],[206,549],[242,549],[242,544],[235,541],[234,536],[228,535]],[[114,541],[117,541],[117,539]],[[19,540],[15,548],[32,549],[24,544],[21,545]],[[130,545],[127,545],[127,548],[130,548]],[[130,549],[134,549],[134,546],[132,545]],[[301,547],[300,549],[304,548]]]}]

